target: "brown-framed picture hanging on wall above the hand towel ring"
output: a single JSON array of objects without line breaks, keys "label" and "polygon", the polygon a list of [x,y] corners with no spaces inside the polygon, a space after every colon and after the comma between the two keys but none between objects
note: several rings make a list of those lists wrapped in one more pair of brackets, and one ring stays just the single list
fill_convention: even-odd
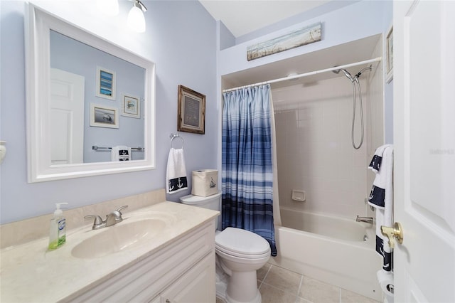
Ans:
[{"label": "brown-framed picture hanging on wall above the hand towel ring", "polygon": [[178,85],[177,130],[205,134],[205,95],[183,85]]}]

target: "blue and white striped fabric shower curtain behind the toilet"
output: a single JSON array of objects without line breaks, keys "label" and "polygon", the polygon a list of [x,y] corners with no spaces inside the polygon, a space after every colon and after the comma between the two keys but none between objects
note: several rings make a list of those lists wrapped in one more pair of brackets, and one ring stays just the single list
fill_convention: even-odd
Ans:
[{"label": "blue and white striped fabric shower curtain behind the toilet", "polygon": [[270,85],[225,92],[223,97],[222,227],[261,235],[276,256]]}]

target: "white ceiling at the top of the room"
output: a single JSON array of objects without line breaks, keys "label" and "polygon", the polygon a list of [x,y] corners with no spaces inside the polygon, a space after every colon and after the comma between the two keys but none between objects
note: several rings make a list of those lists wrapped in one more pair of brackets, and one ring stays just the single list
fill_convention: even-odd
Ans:
[{"label": "white ceiling at the top of the room", "polygon": [[236,38],[264,28],[330,0],[199,0],[215,20],[220,20]]}]

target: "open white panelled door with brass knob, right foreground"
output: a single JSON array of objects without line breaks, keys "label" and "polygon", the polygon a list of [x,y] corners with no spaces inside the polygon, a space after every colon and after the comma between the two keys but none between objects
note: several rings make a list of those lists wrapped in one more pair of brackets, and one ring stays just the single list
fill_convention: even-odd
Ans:
[{"label": "open white panelled door with brass knob, right foreground", "polygon": [[395,302],[455,302],[455,1],[394,1]]}]

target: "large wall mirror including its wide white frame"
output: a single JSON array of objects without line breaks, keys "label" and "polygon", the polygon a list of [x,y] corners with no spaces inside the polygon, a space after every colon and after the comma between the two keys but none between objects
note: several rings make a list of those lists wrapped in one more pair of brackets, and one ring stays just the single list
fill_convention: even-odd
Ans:
[{"label": "large wall mirror including its wide white frame", "polygon": [[154,63],[26,11],[28,181],[154,169]]}]

